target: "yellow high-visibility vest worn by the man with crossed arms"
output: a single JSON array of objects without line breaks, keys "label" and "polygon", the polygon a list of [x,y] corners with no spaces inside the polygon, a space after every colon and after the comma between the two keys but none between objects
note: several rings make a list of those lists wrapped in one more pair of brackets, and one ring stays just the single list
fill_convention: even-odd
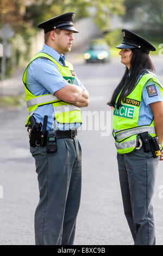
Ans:
[{"label": "yellow high-visibility vest worn by the man with crossed arms", "polygon": [[[57,64],[57,66],[61,72],[61,75],[64,77],[65,80],[67,80],[67,83],[74,84],[75,74],[73,71],[72,64],[69,62],[65,62],[66,66],[62,66],[57,62],[57,60],[55,60],[54,58],[49,56],[47,53],[43,53],[43,52],[37,53],[34,56],[34,58],[32,60],[30,60],[28,66],[30,65],[30,63],[33,62],[33,60],[35,60],[37,58],[42,58],[42,57],[47,58],[47,59],[51,60],[52,62],[54,62],[55,64]],[[24,75],[23,75],[23,83],[24,83],[24,88],[25,88],[25,92],[26,92],[26,102],[27,102],[27,107],[28,107],[28,111],[29,111],[29,115],[28,115],[28,118],[26,121],[26,126],[28,126],[30,124],[29,118],[30,118],[30,116],[33,115],[36,108],[41,105],[46,105],[49,103],[53,103],[55,118],[58,121],[58,123],[62,123],[62,124],[82,123],[82,115],[80,112],[80,108],[73,106],[71,103],[62,101],[52,94],[35,96],[28,90],[28,88],[26,86],[28,66],[27,66],[26,70],[24,71]]]}]

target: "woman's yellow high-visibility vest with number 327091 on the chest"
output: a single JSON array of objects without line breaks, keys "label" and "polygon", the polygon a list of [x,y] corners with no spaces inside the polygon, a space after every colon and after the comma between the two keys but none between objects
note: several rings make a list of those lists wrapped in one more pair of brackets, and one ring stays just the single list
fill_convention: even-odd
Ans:
[{"label": "woman's yellow high-visibility vest with number 327091 on the chest", "polygon": [[[150,125],[137,125],[142,89],[150,80],[160,87],[163,97],[163,89],[160,82],[154,75],[147,73],[141,77],[134,90],[126,97],[126,101],[121,102],[120,108],[117,109],[116,106],[114,108],[112,134],[115,138],[115,145],[119,154],[131,153],[135,150],[139,133],[147,131],[152,137],[156,136],[154,119]],[[117,96],[116,103],[120,94]]]}]

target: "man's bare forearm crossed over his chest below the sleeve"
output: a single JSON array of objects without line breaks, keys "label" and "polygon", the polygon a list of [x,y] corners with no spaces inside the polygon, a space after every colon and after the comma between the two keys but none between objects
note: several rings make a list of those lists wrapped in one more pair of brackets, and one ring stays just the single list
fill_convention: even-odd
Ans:
[{"label": "man's bare forearm crossed over his chest below the sleeve", "polygon": [[54,93],[60,100],[69,102],[77,107],[87,107],[89,105],[89,93],[83,90],[82,87],[75,84],[67,84]]}]

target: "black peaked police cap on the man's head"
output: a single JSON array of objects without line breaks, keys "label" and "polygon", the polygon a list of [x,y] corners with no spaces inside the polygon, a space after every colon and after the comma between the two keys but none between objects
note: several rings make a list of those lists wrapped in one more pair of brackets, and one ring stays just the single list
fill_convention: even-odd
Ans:
[{"label": "black peaked police cap on the man's head", "polygon": [[53,17],[47,21],[44,21],[38,25],[38,28],[43,28],[45,34],[52,31],[55,28],[66,29],[78,33],[76,28],[73,27],[73,20],[76,16],[75,13],[65,13],[57,17]]}]

